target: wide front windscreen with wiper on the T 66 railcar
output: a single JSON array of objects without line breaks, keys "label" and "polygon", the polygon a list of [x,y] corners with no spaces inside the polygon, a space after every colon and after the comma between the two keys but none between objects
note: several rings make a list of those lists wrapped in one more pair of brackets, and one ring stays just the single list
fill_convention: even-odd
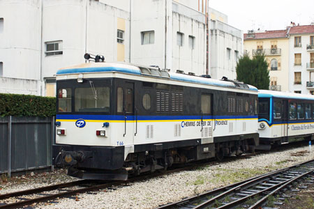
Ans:
[{"label": "wide front windscreen with wiper on the T 66 railcar", "polygon": [[99,111],[110,110],[110,88],[90,87],[75,89],[75,111]]}]

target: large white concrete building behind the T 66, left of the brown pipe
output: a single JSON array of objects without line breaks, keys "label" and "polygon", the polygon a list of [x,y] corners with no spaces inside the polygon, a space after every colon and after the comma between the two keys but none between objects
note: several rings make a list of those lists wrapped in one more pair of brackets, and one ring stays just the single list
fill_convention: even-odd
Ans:
[{"label": "large white concrete building behind the T 66, left of the brown pipe", "polygon": [[[207,8],[208,0],[0,0],[0,93],[54,96],[54,74],[86,52],[195,75],[211,74],[213,59],[232,79],[229,65],[207,56]],[[229,39],[223,51],[238,50]]]}]

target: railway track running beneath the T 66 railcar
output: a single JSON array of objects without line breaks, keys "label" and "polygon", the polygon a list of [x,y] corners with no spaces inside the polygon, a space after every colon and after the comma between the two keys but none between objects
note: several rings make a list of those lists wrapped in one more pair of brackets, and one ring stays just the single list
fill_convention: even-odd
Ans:
[{"label": "railway track running beneath the T 66 railcar", "polygon": [[[251,157],[253,155],[258,155],[258,154],[260,153],[254,153],[254,154],[250,153],[246,155],[241,155],[239,157],[227,157],[223,160],[223,162],[239,160],[239,159]],[[30,206],[33,203],[47,202],[47,201],[51,201],[58,198],[60,199],[64,197],[75,196],[76,194],[81,194],[84,192],[92,192],[99,189],[105,189],[112,186],[124,185],[124,184],[132,183],[135,181],[163,176],[170,173],[176,173],[179,171],[196,169],[196,168],[207,166],[214,163],[217,163],[217,161],[211,160],[210,162],[208,162],[208,161],[203,160],[200,162],[193,162],[193,164],[190,164],[185,167],[177,167],[168,171],[163,171],[162,173],[151,173],[145,176],[137,176],[137,177],[130,178],[130,180],[128,181],[112,181],[112,182],[104,183],[104,182],[99,182],[99,181],[97,182],[95,180],[94,181],[77,180],[71,183],[62,183],[59,185],[50,185],[47,187],[39,187],[36,189],[27,189],[20,192],[1,194],[0,195],[0,209],[1,208],[22,208],[24,206]],[[80,187],[80,188],[77,188],[77,187]],[[219,192],[219,191],[220,190],[217,190],[216,192]]]}]

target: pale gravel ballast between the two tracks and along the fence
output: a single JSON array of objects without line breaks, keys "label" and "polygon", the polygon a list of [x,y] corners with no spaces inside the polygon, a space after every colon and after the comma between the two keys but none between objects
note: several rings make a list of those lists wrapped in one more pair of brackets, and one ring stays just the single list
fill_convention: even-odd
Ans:
[{"label": "pale gravel ballast between the two tracks and along the fence", "polygon": [[[276,153],[255,155],[247,159],[213,163],[193,171],[181,171],[167,176],[151,178],[142,182],[130,183],[102,189],[93,194],[78,194],[76,199],[60,199],[58,203],[39,203],[38,208],[156,208],[165,203],[179,201],[188,196],[229,185],[275,169],[289,167],[300,162],[314,159],[314,151],[308,146]],[[50,174],[49,174],[50,175]],[[55,182],[73,180],[64,172],[54,174]],[[0,194],[17,190],[40,187],[45,176],[36,175],[37,182],[1,184]],[[61,179],[61,180],[60,180]]]}]

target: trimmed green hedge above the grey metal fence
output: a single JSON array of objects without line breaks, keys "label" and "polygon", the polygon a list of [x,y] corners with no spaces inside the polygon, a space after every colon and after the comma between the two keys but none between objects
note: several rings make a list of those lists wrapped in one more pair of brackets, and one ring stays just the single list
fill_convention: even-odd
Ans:
[{"label": "trimmed green hedge above the grey metal fence", "polygon": [[56,98],[0,93],[0,116],[54,116]]}]

